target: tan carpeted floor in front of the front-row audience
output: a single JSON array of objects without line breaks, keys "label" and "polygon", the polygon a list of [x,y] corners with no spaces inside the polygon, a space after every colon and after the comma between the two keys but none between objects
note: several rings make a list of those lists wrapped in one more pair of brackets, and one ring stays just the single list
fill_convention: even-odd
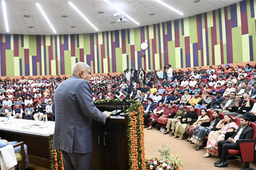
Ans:
[{"label": "tan carpeted floor in front of the front-row audience", "polygon": [[[196,145],[190,144],[186,139],[178,140],[171,135],[164,135],[155,127],[151,130],[144,129],[145,132],[145,148],[146,156],[159,156],[157,149],[162,144],[168,144],[169,148],[173,149],[172,154],[181,155],[183,161],[183,170],[239,170],[244,167],[240,159],[228,160],[227,168],[217,168],[213,165],[218,160],[217,157],[203,158],[206,154],[206,149],[196,151]],[[250,163],[250,167],[256,169],[255,163]]]}]

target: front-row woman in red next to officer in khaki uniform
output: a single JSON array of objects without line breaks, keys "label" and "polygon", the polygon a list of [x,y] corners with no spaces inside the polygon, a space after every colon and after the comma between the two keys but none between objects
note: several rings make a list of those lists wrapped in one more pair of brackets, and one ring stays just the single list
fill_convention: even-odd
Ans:
[{"label": "front-row woman in red next to officer in khaki uniform", "polygon": [[166,124],[167,120],[169,119],[169,114],[176,113],[175,110],[172,108],[172,103],[168,104],[168,108],[164,110],[161,117],[158,118],[158,126],[161,128],[160,132],[166,132]]}]

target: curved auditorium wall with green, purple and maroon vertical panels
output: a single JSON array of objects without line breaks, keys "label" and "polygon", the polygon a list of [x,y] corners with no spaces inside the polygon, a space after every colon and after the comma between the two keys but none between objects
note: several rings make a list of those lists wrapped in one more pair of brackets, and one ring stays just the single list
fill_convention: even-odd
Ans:
[{"label": "curved auditorium wall with green, purple and maroon vertical panels", "polygon": [[[186,12],[186,11],[184,11]],[[256,0],[134,29],[72,35],[0,34],[0,75],[71,74],[79,61],[92,73],[256,61]],[[143,57],[140,45],[148,42]]]}]

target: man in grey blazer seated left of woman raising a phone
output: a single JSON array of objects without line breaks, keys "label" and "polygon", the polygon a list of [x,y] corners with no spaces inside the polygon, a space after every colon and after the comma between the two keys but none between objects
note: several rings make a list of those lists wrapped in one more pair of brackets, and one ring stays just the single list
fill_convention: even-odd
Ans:
[{"label": "man in grey blazer seated left of woman raising a phone", "polygon": [[[230,98],[226,98],[225,101],[221,102],[220,108],[216,108],[214,110],[218,110],[220,113],[228,113],[235,111],[236,106],[236,92],[230,92]],[[231,108],[231,109],[229,109]]]}]

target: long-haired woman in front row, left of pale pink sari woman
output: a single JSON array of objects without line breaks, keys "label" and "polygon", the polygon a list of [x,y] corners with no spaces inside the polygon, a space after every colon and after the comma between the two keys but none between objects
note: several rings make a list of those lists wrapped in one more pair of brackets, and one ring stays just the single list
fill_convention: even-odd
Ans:
[{"label": "long-haired woman in front row, left of pale pink sari woman", "polygon": [[199,126],[196,128],[195,132],[193,133],[192,137],[190,140],[197,144],[196,150],[200,150],[203,146],[203,141],[205,140],[205,136],[208,136],[211,131],[217,130],[216,125],[218,122],[220,122],[221,118],[219,115],[218,110],[214,110],[212,113],[212,121],[210,123],[210,126],[208,127],[203,127]]}]

